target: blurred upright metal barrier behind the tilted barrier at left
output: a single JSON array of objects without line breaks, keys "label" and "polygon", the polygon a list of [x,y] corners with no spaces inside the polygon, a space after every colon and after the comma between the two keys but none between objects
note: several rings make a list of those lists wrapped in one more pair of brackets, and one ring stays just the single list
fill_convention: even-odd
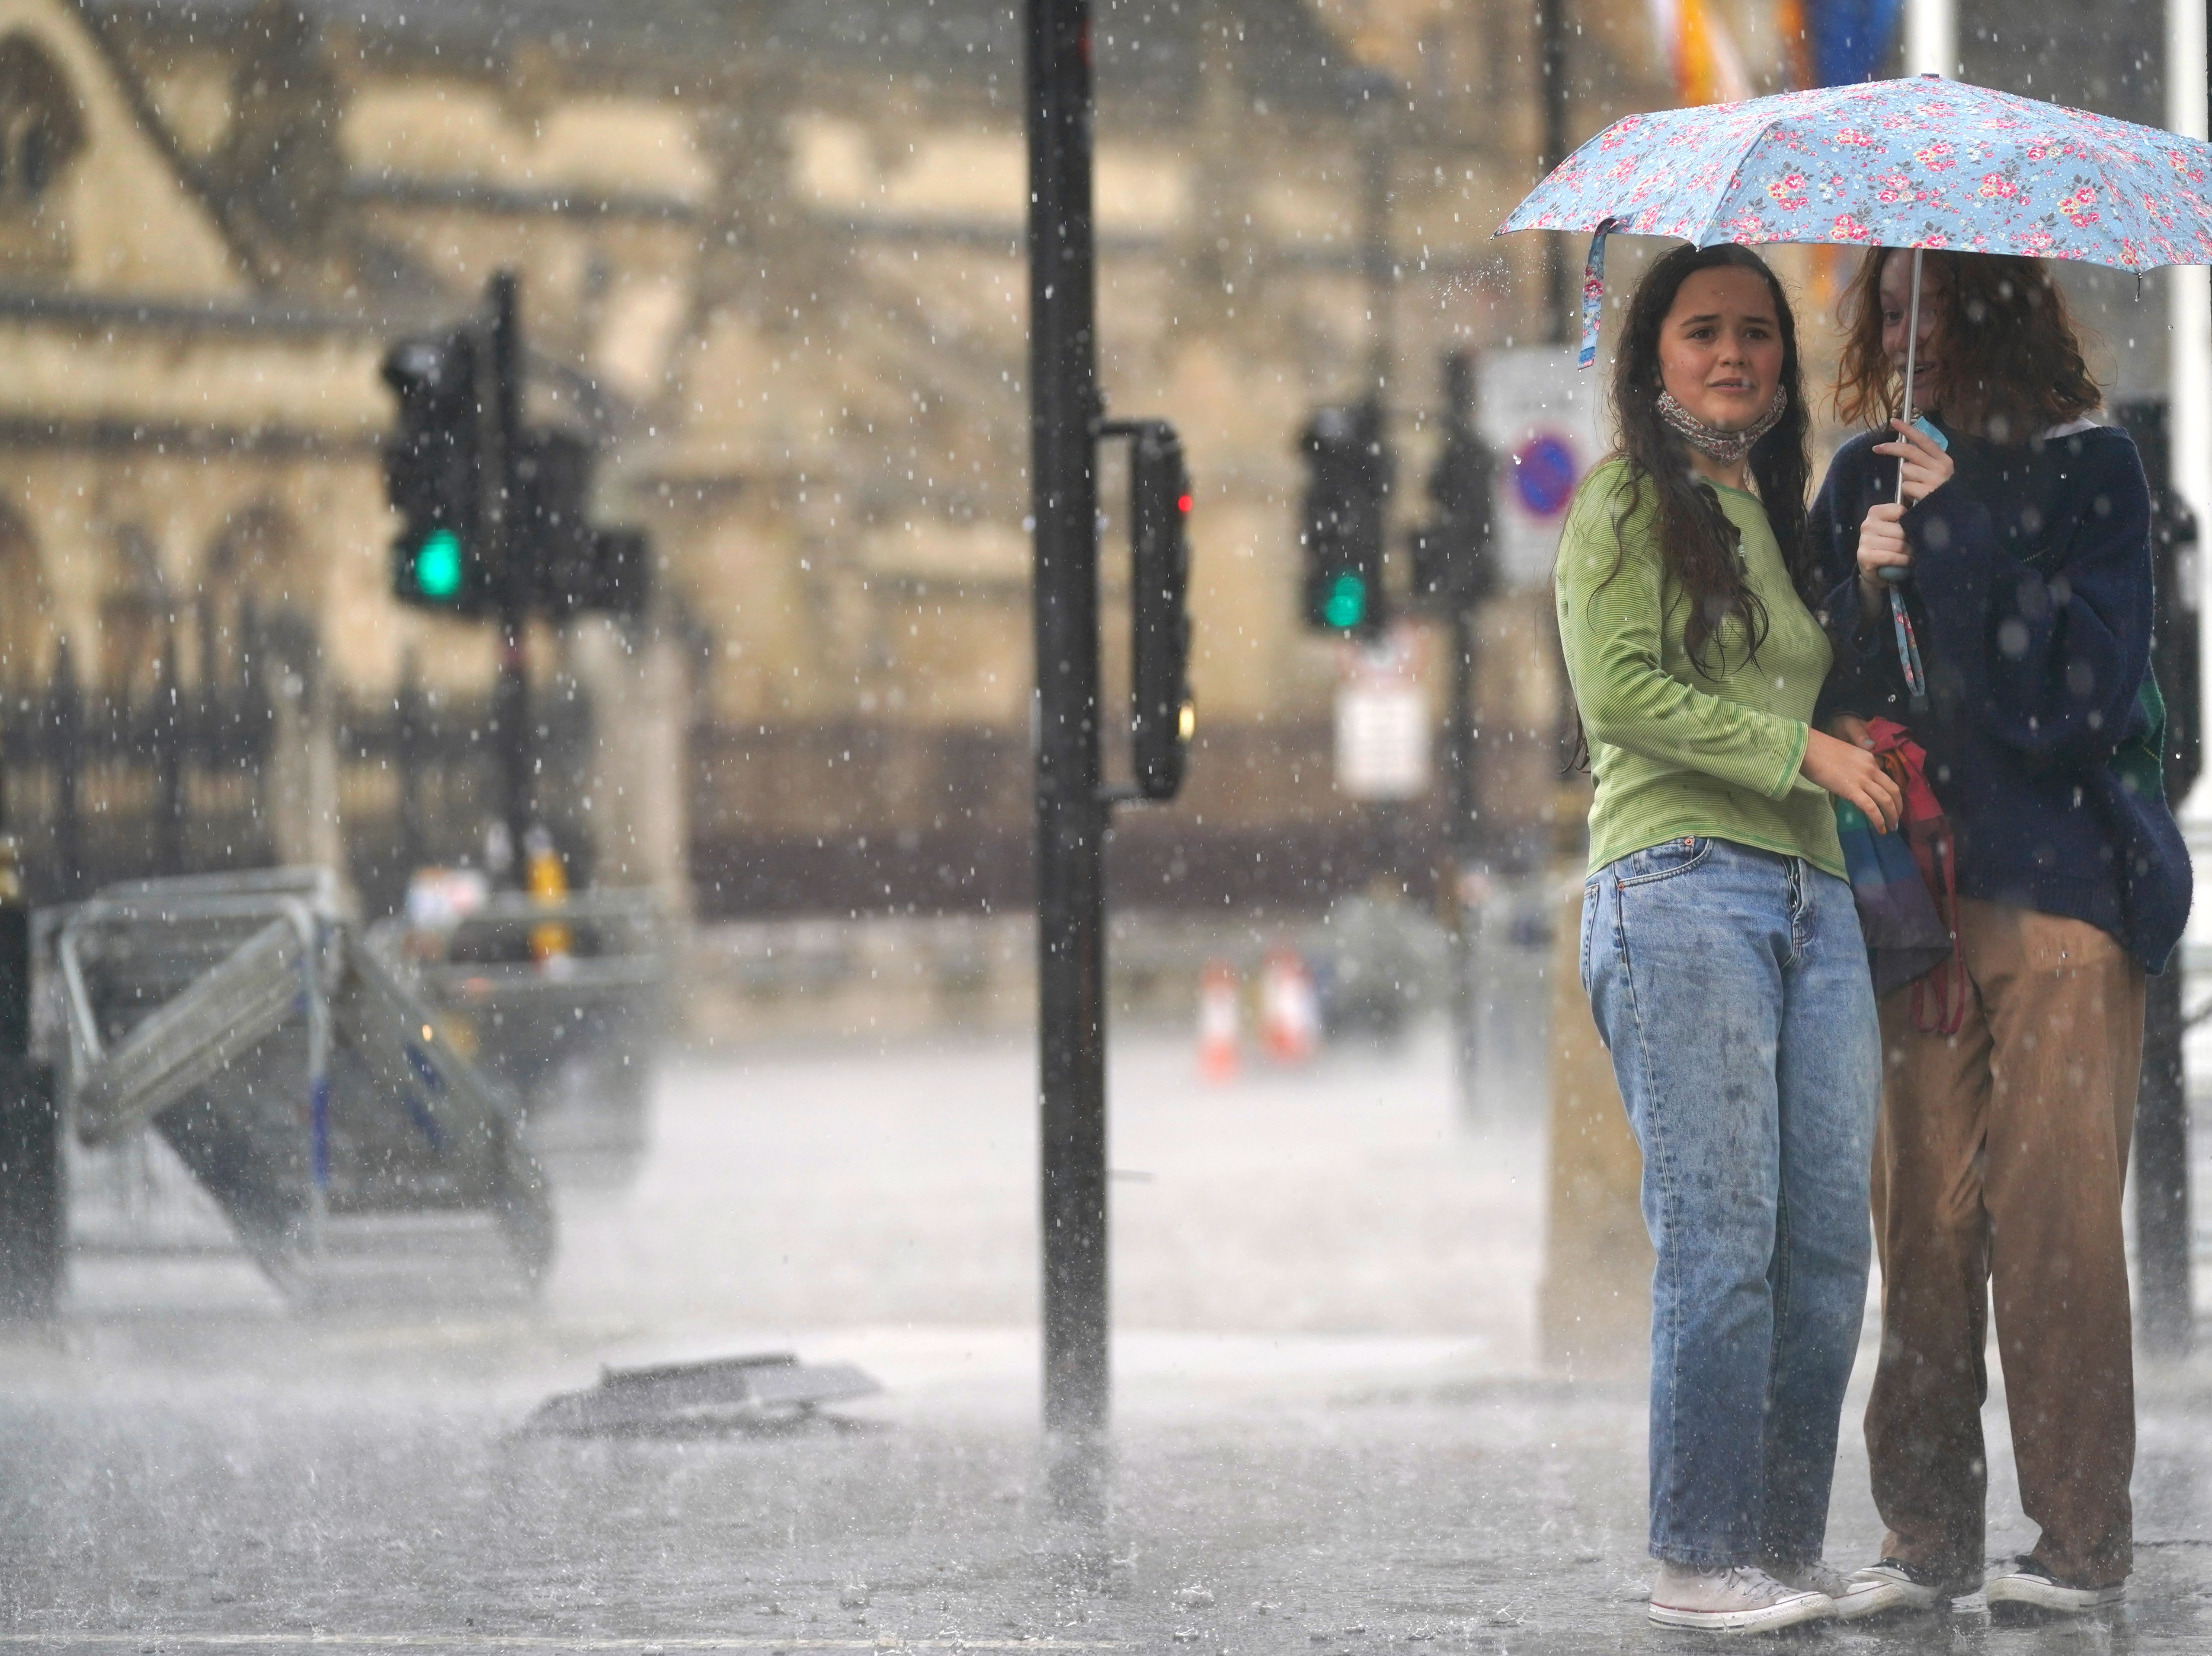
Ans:
[{"label": "blurred upright metal barrier behind the tilted barrier at left", "polygon": [[442,931],[380,922],[369,946],[513,1088],[557,1185],[613,1185],[637,1170],[670,975],[653,893],[502,893]]}]

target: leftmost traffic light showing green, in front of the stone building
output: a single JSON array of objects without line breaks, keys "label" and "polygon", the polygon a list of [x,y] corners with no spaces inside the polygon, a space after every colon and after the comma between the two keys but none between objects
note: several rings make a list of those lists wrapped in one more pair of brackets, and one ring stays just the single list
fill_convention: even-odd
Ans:
[{"label": "leftmost traffic light showing green, in front of the stone building", "polygon": [[498,604],[482,524],[482,402],[476,332],[405,338],[385,354],[400,427],[385,444],[385,489],[400,515],[392,595],[447,615]]}]

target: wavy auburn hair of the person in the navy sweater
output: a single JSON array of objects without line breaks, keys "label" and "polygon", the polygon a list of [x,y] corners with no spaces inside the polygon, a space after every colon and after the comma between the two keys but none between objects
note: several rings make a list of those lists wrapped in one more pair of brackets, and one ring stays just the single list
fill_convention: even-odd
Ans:
[{"label": "wavy auburn hair of the person in the navy sweater", "polygon": [[[1836,416],[1867,427],[1887,425],[1905,396],[1905,376],[1882,349],[1882,265],[1893,252],[1905,250],[1867,248],[1843,294]],[[1931,250],[1922,281],[1938,305],[1931,345],[1942,354],[1951,425],[2000,444],[2026,442],[2104,402],[2066,292],[2042,259]]]}]

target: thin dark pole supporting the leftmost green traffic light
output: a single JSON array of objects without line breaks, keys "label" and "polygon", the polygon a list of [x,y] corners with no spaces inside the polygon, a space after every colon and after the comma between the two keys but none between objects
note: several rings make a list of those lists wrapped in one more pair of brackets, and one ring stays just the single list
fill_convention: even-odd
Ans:
[{"label": "thin dark pole supporting the leftmost green traffic light", "polygon": [[515,272],[491,279],[487,356],[489,385],[482,396],[482,522],[491,568],[500,581],[500,677],[491,692],[491,716],[498,725],[500,820],[507,825],[507,878],[524,882],[522,842],[531,827],[533,730],[531,730],[531,663],[529,546],[518,533],[515,449],[522,433],[522,314]]}]

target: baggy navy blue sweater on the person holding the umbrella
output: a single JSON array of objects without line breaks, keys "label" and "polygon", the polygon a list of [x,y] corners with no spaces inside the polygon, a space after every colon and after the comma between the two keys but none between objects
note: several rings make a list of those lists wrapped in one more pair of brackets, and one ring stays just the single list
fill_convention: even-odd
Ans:
[{"label": "baggy navy blue sweater on the person holding the umbrella", "polygon": [[1887,601],[1858,621],[1858,526],[1898,480],[1869,433],[1836,453],[1812,511],[1836,643],[1820,716],[1911,727],[1958,836],[1960,893],[2086,920],[2159,971],[2190,860],[2143,780],[2150,491],[2135,442],[2112,427],[2020,447],[1944,436],[1955,475],[1905,513],[1929,714],[1909,712]]}]

